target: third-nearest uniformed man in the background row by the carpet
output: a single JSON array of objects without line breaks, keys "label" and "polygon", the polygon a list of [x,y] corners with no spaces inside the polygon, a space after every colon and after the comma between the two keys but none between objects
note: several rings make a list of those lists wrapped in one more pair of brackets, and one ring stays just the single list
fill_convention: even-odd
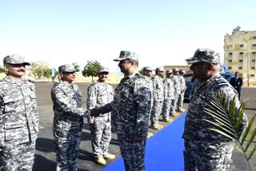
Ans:
[{"label": "third-nearest uniformed man in the background row by the carpet", "polygon": [[164,100],[162,105],[162,120],[168,123],[173,121],[173,119],[169,117],[171,100],[174,99],[174,82],[170,78],[171,74],[173,74],[171,70],[166,70],[166,78],[162,80],[163,87],[164,87],[163,88]]}]

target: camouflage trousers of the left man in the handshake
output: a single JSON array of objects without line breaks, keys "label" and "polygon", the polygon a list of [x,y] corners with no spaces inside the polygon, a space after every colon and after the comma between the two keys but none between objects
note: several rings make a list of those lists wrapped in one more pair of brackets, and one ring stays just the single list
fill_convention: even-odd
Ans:
[{"label": "camouflage trousers of the left man in the handshake", "polygon": [[[66,125],[54,126],[57,169],[61,171],[78,170],[78,153],[82,136],[82,123],[77,128],[67,129]],[[70,128],[70,127],[69,127]]]}]

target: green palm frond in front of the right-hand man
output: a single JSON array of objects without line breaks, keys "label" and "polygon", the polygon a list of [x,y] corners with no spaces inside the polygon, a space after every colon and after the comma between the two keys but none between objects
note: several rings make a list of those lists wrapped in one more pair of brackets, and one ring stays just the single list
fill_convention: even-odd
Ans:
[{"label": "green palm frond in front of the right-hand man", "polygon": [[[235,97],[230,99],[226,93],[216,93],[212,96],[211,100],[206,104],[206,108],[204,109],[204,111],[208,113],[213,118],[213,120],[210,121],[209,119],[205,119],[205,121],[214,126],[213,128],[209,128],[210,130],[222,134],[222,136],[230,139],[230,143],[232,143],[240,153],[243,153],[250,167],[250,170],[252,170],[250,159],[253,157],[256,151],[256,145],[249,152],[249,156],[246,154],[246,152],[248,149],[250,149],[250,146],[253,145],[252,142],[256,136],[256,128],[249,135],[250,129],[254,124],[256,114],[250,120],[246,130],[242,135],[242,140],[240,140],[242,133],[241,129],[243,128],[242,122],[245,105],[246,101],[242,101],[242,104],[239,106],[239,108],[236,108]],[[248,141],[246,142],[246,140]],[[226,144],[227,143],[219,146],[218,149],[221,149]],[[245,149],[243,146],[246,146]]]}]

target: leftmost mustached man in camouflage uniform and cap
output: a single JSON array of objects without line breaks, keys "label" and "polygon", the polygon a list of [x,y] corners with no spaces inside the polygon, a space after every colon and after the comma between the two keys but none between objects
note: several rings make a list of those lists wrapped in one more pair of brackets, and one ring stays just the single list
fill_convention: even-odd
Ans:
[{"label": "leftmost mustached man in camouflage uniform and cap", "polygon": [[38,133],[38,105],[33,82],[22,78],[24,57],[3,58],[6,78],[0,82],[0,170],[32,170]]}]

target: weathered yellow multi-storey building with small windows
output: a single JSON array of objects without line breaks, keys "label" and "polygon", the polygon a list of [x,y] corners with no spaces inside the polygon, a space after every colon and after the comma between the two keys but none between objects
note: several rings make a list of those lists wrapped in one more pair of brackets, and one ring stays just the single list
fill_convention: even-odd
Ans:
[{"label": "weathered yellow multi-storey building with small windows", "polygon": [[238,71],[244,82],[256,82],[256,31],[241,31],[238,26],[226,34],[224,43],[226,71]]}]

